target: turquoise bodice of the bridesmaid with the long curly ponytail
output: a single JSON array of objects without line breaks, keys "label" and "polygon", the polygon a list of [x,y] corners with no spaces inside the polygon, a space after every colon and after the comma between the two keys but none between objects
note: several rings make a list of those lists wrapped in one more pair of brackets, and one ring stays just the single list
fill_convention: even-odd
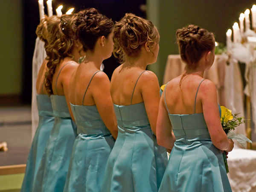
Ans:
[{"label": "turquoise bodice of the bridesmaid with the long curly ponytail", "polygon": [[54,116],[70,119],[70,113],[65,96],[51,95]]}]

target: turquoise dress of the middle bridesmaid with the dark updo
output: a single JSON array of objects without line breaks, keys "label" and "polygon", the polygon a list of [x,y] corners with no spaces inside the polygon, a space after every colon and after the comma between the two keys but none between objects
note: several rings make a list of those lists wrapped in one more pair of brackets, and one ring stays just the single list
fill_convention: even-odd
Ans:
[{"label": "turquoise dress of the middle bridesmaid with the dark updo", "polygon": [[115,140],[102,121],[96,105],[70,105],[79,135],[73,146],[64,192],[99,192]]}]

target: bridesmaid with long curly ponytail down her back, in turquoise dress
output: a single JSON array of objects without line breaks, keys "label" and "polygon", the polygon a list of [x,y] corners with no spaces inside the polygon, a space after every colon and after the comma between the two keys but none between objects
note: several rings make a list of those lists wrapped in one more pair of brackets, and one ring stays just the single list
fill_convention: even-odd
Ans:
[{"label": "bridesmaid with long curly ponytail down her back, in turquoise dress", "polygon": [[81,57],[73,38],[72,24],[76,15],[63,15],[48,37],[45,87],[51,95],[55,123],[35,178],[34,192],[63,192],[76,126],[68,97],[68,87],[76,63]]}]

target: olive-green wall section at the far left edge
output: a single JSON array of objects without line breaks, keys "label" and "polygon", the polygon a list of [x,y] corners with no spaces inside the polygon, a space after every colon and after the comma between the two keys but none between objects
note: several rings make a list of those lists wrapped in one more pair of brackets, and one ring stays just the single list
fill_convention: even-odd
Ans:
[{"label": "olive-green wall section at the far left edge", "polygon": [[22,89],[22,3],[1,0],[0,95],[20,94]]}]

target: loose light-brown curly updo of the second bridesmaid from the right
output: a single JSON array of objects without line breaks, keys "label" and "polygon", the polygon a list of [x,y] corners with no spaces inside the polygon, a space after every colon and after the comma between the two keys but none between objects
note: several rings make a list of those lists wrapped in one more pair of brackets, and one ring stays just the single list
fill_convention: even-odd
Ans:
[{"label": "loose light-brown curly updo of the second bridesmaid from the right", "polygon": [[120,63],[123,63],[127,57],[138,57],[141,46],[146,42],[148,42],[150,50],[156,42],[158,43],[159,33],[151,21],[132,13],[126,13],[115,24],[113,41],[113,54],[119,58]]}]

